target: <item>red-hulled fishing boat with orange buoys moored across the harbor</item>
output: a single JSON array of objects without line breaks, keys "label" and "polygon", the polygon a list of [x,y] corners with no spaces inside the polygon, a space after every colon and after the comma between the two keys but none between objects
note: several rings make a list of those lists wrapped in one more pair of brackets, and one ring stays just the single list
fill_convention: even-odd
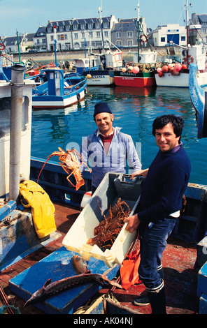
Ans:
[{"label": "red-hulled fishing boat with orange buoys moored across the harbor", "polygon": [[119,70],[114,70],[114,82],[115,85],[122,87],[154,87],[157,52],[151,49],[145,51],[140,48],[142,38],[145,38],[147,41],[148,37],[145,36],[139,22],[139,1],[137,7],[138,52],[134,54],[134,61],[132,63],[127,64],[126,67],[122,67]]}]

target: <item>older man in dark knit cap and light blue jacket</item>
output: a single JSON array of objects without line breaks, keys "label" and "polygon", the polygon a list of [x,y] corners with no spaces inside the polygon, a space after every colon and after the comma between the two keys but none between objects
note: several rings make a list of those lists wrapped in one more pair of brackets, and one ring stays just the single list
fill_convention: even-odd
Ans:
[{"label": "older man in dark knit cap and light blue jacket", "polygon": [[[141,163],[130,135],[113,127],[114,116],[107,103],[94,107],[97,130],[83,140],[80,149],[83,162],[92,168],[92,193],[107,172],[126,173],[127,161],[131,172],[141,170]],[[83,172],[85,165],[80,166]]]}]

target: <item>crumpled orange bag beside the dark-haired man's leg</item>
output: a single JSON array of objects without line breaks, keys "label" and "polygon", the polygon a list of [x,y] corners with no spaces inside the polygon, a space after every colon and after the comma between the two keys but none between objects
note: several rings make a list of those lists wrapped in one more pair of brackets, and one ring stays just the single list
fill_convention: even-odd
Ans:
[{"label": "crumpled orange bag beside the dark-haired man's leg", "polygon": [[120,266],[120,276],[122,288],[127,290],[131,285],[142,283],[138,276],[138,267],[140,263],[140,251],[131,252],[126,260],[123,260]]}]

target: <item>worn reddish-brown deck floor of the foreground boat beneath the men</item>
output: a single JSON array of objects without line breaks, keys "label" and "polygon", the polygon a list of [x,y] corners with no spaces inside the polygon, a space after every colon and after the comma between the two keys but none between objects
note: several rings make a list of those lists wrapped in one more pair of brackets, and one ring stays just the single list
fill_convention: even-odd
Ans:
[{"label": "worn reddish-brown deck floor of the foreground boat beneath the men", "polygon": [[[10,305],[18,308],[21,314],[43,314],[35,306],[24,308],[24,299],[20,299],[10,292],[8,282],[17,274],[31,267],[36,262],[50,255],[62,247],[62,239],[71,228],[71,225],[80,211],[76,208],[55,204],[55,221],[57,232],[62,234],[62,237],[52,241],[51,244],[40,248],[38,251],[31,253],[24,259],[20,260],[11,267],[0,272],[0,285],[3,288]],[[166,311],[168,314],[196,314],[199,313],[199,298],[197,297],[197,270],[194,269],[194,263],[197,259],[196,246],[180,244],[178,241],[169,239],[169,244],[166,247],[163,255],[164,267],[164,282],[166,286]],[[98,272],[97,272],[98,273]],[[139,295],[145,290],[143,284],[134,285],[129,290],[115,289],[113,296],[120,301],[123,306],[139,311],[139,313],[150,314],[149,306],[134,306],[133,300],[136,295]],[[96,297],[108,292],[104,288],[99,290]],[[3,300],[0,297],[0,307],[3,305]]]}]

